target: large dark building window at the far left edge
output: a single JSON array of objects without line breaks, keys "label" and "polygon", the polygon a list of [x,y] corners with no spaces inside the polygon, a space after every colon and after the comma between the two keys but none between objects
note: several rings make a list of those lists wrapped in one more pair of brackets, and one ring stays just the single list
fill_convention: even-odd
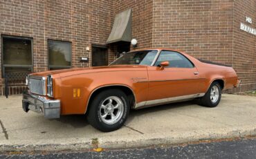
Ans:
[{"label": "large dark building window at the far left edge", "polygon": [[33,70],[33,41],[26,37],[2,36],[3,77],[16,73],[28,74]]}]

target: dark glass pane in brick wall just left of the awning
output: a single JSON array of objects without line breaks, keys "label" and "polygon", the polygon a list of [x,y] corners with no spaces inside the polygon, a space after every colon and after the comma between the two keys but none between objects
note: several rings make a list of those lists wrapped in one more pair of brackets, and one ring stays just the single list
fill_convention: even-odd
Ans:
[{"label": "dark glass pane in brick wall just left of the awning", "polygon": [[107,66],[108,53],[106,46],[92,47],[92,66]]}]

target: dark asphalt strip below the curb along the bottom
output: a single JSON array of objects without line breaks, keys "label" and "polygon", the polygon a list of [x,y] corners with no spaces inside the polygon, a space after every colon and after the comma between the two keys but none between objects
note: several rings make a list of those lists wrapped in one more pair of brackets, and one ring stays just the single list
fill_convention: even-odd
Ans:
[{"label": "dark asphalt strip below the curb along the bottom", "polygon": [[256,139],[232,140],[188,144],[172,147],[149,147],[144,149],[107,150],[102,152],[80,151],[59,153],[6,153],[0,158],[256,158]]}]

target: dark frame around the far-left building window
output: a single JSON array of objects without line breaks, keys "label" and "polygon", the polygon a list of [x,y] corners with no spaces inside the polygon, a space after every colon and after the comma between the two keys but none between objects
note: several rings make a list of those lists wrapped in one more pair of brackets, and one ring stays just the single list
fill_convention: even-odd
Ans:
[{"label": "dark frame around the far-left building window", "polygon": [[[31,64],[30,65],[20,65],[20,64],[3,64],[3,39],[26,39],[31,43]],[[21,37],[21,36],[12,36],[12,35],[1,35],[1,67],[2,67],[2,77],[6,77],[6,67],[14,67],[14,68],[30,68],[31,73],[34,70],[34,57],[33,57],[33,37]]]}]

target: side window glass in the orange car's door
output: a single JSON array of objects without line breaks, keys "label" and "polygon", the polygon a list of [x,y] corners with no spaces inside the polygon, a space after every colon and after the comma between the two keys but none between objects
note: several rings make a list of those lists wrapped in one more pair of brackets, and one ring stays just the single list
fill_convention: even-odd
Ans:
[{"label": "side window glass in the orange car's door", "polygon": [[186,57],[181,55],[180,53],[162,50],[158,59],[156,60],[155,66],[161,64],[161,62],[169,62],[170,65],[167,67],[170,68],[193,68],[194,64],[190,62]]}]

